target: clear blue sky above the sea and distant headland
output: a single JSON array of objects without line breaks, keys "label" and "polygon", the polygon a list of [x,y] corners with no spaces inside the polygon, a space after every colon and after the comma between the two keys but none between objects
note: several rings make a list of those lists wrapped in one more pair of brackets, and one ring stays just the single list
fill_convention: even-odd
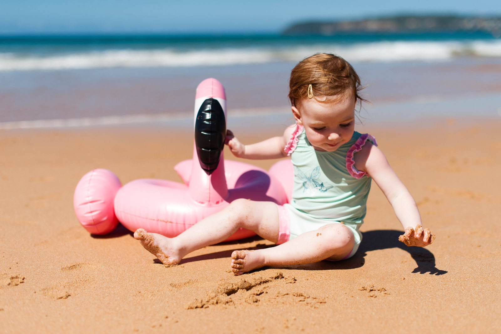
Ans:
[{"label": "clear blue sky above the sea and distant headland", "polygon": [[501,16],[499,4],[499,0],[0,0],[0,34],[273,33],[306,20],[402,13]]}]

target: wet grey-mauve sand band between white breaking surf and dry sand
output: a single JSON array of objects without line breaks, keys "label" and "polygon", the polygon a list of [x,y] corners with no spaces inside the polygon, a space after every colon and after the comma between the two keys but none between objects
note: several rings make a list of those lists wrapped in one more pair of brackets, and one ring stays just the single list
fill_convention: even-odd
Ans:
[{"label": "wet grey-mauve sand band between white breaking surf and dry sand", "polygon": [[[5,122],[28,120],[158,114],[167,117],[179,113],[192,117],[195,88],[210,77],[224,85],[228,110],[251,112],[254,108],[285,107],[287,111],[289,76],[294,65],[284,62],[194,68],[0,71],[0,128]],[[499,96],[501,91],[501,63],[497,58],[459,58],[445,63],[367,62],[353,66],[366,87],[362,94],[376,106],[409,100]],[[454,107],[446,105],[442,109]],[[406,111],[405,106],[400,109],[401,119],[409,118]],[[489,108],[475,112],[491,115]]]}]

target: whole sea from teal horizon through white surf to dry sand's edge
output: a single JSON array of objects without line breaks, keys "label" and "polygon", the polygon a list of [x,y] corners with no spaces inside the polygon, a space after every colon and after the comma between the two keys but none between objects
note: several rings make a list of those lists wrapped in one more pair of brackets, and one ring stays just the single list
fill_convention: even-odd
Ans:
[{"label": "whole sea from teal horizon through white surf to dry sand's edge", "polygon": [[[372,118],[412,118],[391,112],[400,104],[459,101],[457,109],[476,99],[490,101],[476,114],[501,113],[501,39],[486,33],[4,36],[0,128],[190,118],[196,85],[207,77],[223,83],[234,115],[288,113],[290,70],[317,52],[355,67]],[[443,116],[469,112],[436,108]]]}]

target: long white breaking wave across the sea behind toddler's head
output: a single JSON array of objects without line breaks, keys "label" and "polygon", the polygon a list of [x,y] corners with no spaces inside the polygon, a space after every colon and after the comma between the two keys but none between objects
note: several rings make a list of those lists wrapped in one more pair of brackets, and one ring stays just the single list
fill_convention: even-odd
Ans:
[{"label": "long white breaking wave across the sea behind toddler's head", "polygon": [[384,41],[183,51],[124,49],[43,56],[0,53],[0,71],[264,64],[297,62],[317,52],[336,53],[350,62],[447,61],[459,56],[501,57],[501,41]]}]

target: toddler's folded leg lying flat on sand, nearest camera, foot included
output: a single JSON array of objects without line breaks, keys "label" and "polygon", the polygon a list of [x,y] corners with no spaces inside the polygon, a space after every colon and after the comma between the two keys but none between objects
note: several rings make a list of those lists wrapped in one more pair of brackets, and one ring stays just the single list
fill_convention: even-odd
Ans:
[{"label": "toddler's folded leg lying flat on sand, nearest camera, foot included", "polygon": [[322,226],[278,245],[255,251],[241,250],[231,254],[235,275],[263,266],[312,263],[327,258],[341,260],[355,244],[353,232],[343,224]]}]

